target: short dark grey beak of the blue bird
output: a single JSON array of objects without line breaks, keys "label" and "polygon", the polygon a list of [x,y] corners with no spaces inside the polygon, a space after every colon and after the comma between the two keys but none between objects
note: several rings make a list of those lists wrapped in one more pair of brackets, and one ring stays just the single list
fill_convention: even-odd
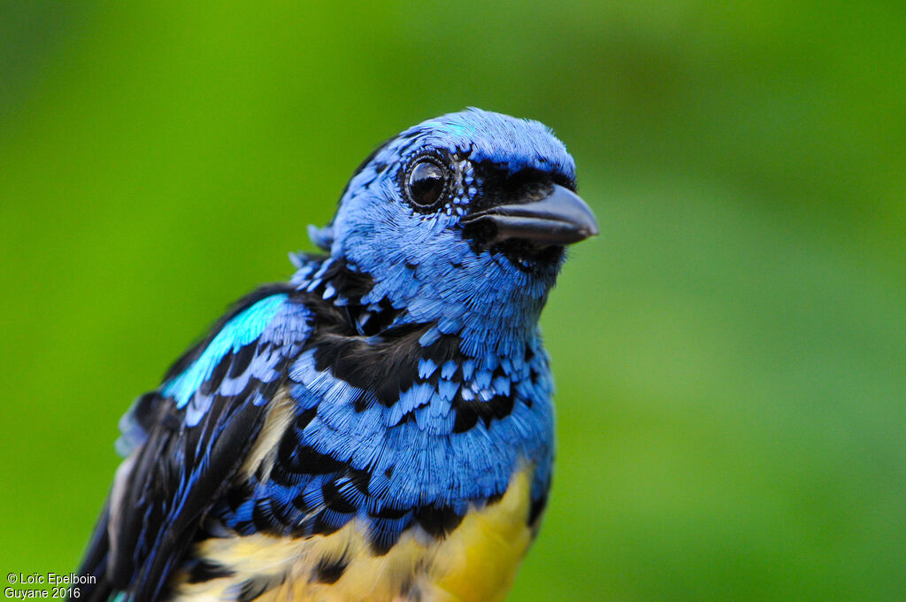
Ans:
[{"label": "short dark grey beak of the blue bird", "polygon": [[585,201],[556,184],[544,199],[498,205],[463,218],[462,224],[488,228],[487,239],[492,245],[519,239],[539,248],[571,245],[599,231],[598,220]]}]

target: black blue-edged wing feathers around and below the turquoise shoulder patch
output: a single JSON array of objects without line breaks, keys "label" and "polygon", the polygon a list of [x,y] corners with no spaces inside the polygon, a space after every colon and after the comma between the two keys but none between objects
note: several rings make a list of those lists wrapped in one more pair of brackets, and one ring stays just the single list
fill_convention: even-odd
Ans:
[{"label": "black blue-edged wing feathers around and below the turquoise shoulder patch", "polygon": [[[165,382],[181,374],[204,353],[217,333],[239,313],[267,296],[288,293],[289,285],[264,286],[244,297],[198,344],[169,369]],[[251,343],[254,354],[267,345]],[[226,354],[211,378],[199,388],[217,391],[227,374],[241,374],[251,353],[245,347]],[[288,361],[288,357],[284,361]],[[245,366],[233,364],[245,364]],[[284,370],[284,368],[282,368]],[[262,384],[250,378],[235,396],[215,394],[210,408],[194,426],[186,409],[159,391],[139,398],[130,413],[130,430],[138,445],[117,471],[117,478],[92,535],[80,573],[97,582],[82,587],[83,600],[107,600],[117,591],[130,602],[150,602],[165,594],[174,568],[185,557],[207,511],[223,495],[264,422],[266,403],[283,377]],[[216,382],[215,382],[216,381]]]}]

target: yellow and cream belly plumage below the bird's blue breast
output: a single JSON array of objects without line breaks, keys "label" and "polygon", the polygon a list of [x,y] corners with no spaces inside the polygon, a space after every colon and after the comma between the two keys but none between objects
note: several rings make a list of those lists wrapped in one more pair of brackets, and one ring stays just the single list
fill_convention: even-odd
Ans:
[{"label": "yellow and cream belly plumage below the bird's blue breast", "polygon": [[[527,524],[531,470],[517,471],[500,500],[463,517],[445,539],[418,527],[407,530],[382,556],[374,556],[365,526],[352,520],[328,536],[285,539],[250,535],[207,539],[194,554],[234,571],[228,578],[174,581],[174,600],[229,600],[250,578],[273,576],[275,585],[255,598],[262,602],[493,602],[503,600],[532,539]],[[313,581],[319,563],[341,558],[348,566],[334,583]]]}]

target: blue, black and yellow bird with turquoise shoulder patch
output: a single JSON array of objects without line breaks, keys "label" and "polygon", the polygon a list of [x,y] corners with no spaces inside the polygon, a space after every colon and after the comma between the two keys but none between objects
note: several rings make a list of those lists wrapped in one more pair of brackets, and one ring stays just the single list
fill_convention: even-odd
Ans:
[{"label": "blue, black and yellow bird with turquoise shoulder patch", "polygon": [[573,157],[539,121],[448,113],[308,232],[120,420],[79,602],[506,597],[554,461],[538,319],[599,233]]}]

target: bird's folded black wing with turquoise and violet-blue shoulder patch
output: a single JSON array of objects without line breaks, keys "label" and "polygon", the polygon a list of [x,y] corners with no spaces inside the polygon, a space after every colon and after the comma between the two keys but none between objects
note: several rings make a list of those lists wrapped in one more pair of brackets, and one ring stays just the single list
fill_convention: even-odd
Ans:
[{"label": "bird's folded black wing with turquoise and violet-blue shoulder patch", "polygon": [[242,299],[123,417],[118,448],[127,457],[82,564],[97,578],[82,599],[159,596],[311,332],[292,290],[267,286]]}]

